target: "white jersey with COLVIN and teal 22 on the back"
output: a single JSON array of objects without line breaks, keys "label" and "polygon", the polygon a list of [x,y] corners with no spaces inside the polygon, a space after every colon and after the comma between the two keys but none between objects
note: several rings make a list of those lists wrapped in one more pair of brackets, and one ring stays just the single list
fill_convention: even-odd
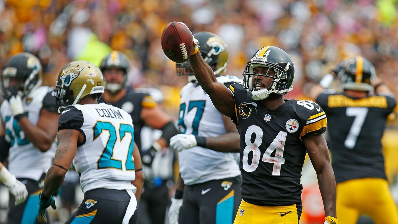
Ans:
[{"label": "white jersey with COLVIN and teal 22 on the back", "polygon": [[135,189],[134,128],[131,116],[105,103],[68,106],[58,130],[74,129],[84,136],[73,165],[83,193],[97,188]]}]

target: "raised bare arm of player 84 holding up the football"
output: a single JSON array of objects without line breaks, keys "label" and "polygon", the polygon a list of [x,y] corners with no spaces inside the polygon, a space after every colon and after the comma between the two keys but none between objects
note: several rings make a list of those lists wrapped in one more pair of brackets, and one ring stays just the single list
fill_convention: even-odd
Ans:
[{"label": "raised bare arm of player 84 holding up the football", "polygon": [[[200,43],[199,43],[200,45]],[[214,106],[225,116],[233,118],[235,116],[235,102],[232,93],[219,83],[211,67],[203,60],[200,53],[195,53],[189,57],[189,63],[197,81],[209,94]]]}]

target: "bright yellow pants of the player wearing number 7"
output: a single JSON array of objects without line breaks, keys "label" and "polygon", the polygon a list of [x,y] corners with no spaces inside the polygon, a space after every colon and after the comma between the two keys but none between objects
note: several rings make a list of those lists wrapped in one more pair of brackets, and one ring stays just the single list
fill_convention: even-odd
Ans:
[{"label": "bright yellow pants of the player wearing number 7", "polygon": [[356,224],[361,214],[370,216],[375,224],[398,224],[397,206],[386,180],[353,179],[336,188],[339,224]]}]

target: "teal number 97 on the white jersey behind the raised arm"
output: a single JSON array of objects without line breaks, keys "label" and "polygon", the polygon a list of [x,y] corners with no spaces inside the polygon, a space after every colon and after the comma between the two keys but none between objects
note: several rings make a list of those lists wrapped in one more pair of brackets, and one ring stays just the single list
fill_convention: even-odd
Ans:
[{"label": "teal number 97 on the white jersey behind the raised arm", "polygon": [[[203,112],[205,111],[205,106],[206,106],[206,100],[192,100],[189,101],[188,104],[188,111],[191,111],[193,108],[197,108],[195,118],[193,118],[192,122],[192,134],[194,136],[198,135],[199,132],[199,122],[202,119]],[[178,119],[178,126],[180,126],[180,131],[182,134],[185,134],[187,131],[187,127],[184,124],[184,115],[185,115],[185,108],[186,104],[183,103],[179,107],[179,119]],[[183,131],[182,131],[183,130]]]}]

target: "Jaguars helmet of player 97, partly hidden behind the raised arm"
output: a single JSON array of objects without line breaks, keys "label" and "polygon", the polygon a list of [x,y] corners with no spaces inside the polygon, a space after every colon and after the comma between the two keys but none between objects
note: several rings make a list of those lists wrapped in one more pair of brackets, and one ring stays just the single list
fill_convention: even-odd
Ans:
[{"label": "Jaguars helmet of player 97, partly hidden behind the raised arm", "polygon": [[[210,32],[197,32],[193,36],[199,41],[199,52],[205,62],[210,65],[216,76],[226,71],[228,47],[221,37]],[[177,75],[188,75],[189,82],[195,82],[189,61],[176,64]]]}]

